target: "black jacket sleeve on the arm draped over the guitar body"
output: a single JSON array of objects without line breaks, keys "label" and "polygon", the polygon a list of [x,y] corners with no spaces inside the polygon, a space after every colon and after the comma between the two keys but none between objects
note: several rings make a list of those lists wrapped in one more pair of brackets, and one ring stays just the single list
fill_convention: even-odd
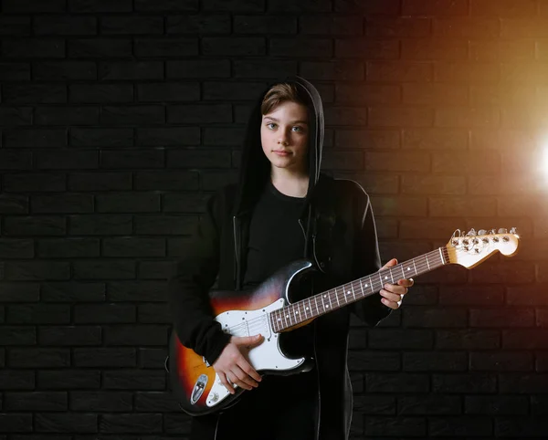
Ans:
[{"label": "black jacket sleeve on the arm draped over the guitar body", "polygon": [[177,337],[210,364],[230,340],[214,320],[207,295],[219,270],[219,197],[216,193],[207,201],[205,215],[168,282],[168,305]]}]

